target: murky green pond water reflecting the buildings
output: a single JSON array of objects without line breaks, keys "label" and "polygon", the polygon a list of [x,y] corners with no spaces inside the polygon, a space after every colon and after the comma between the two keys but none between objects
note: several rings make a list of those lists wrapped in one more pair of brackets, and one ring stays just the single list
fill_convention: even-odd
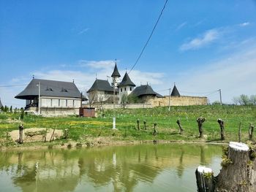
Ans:
[{"label": "murky green pond water reflecting the buildings", "polygon": [[0,191],[196,191],[197,166],[218,174],[221,155],[195,144],[0,152]]}]

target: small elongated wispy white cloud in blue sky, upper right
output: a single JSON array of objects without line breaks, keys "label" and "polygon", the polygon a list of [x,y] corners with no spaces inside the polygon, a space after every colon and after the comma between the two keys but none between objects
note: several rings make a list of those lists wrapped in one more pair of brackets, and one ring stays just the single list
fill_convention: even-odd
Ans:
[{"label": "small elongated wispy white cloud in blue sky, upper right", "polygon": [[189,42],[181,45],[180,50],[199,49],[199,48],[209,45],[212,42],[214,42],[215,40],[219,39],[220,34],[221,34],[221,32],[216,28],[208,30],[200,37],[192,39]]}]

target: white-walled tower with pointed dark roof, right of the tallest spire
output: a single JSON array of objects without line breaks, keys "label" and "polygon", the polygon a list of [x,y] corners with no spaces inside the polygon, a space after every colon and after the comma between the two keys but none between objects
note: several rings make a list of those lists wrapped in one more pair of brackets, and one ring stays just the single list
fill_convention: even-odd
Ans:
[{"label": "white-walled tower with pointed dark roof, right of the tallest spire", "polygon": [[132,93],[135,86],[136,85],[129,78],[129,75],[127,74],[127,72],[125,72],[123,80],[118,85],[118,87],[119,87],[119,104],[121,103],[122,96],[124,94],[129,96],[129,94]]}]

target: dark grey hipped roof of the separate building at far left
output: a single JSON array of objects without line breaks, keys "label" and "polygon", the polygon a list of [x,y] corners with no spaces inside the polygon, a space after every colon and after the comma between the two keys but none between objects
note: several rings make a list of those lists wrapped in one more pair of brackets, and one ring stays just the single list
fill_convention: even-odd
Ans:
[{"label": "dark grey hipped roof of the separate building at far left", "polygon": [[16,99],[33,99],[38,96],[38,84],[40,82],[40,96],[59,96],[69,98],[80,98],[80,91],[74,82],[64,82],[56,80],[33,79],[29,85],[21,91]]}]

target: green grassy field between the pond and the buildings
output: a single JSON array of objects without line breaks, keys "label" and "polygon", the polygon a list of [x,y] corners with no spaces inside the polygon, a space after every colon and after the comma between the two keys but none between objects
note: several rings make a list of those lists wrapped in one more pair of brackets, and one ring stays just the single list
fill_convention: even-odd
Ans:
[{"label": "green grassy field between the pond and the buildings", "polygon": [[[4,145],[6,133],[18,129],[20,114],[0,114],[0,144]],[[203,123],[204,139],[198,138],[199,132],[196,118],[206,118]],[[57,128],[69,129],[69,139],[75,142],[86,143],[91,138],[101,138],[111,141],[135,140],[167,140],[188,142],[222,142],[219,140],[218,118],[225,121],[225,141],[238,141],[238,126],[241,122],[242,142],[249,138],[249,123],[256,125],[255,106],[190,106],[156,107],[153,109],[121,109],[116,110],[116,128],[112,129],[113,110],[98,112],[98,118],[78,118],[75,116],[45,118],[35,115],[24,115],[22,120],[24,128]],[[177,119],[181,120],[184,134],[178,134]],[[137,129],[137,120],[140,120],[140,131]],[[144,129],[143,120],[146,120],[147,130]],[[157,135],[153,135],[154,123],[157,123]],[[256,136],[255,136],[256,138]],[[58,141],[57,141],[58,142]],[[59,141],[60,142],[60,141]],[[68,140],[61,139],[61,142]],[[14,143],[12,143],[14,144]]]}]

